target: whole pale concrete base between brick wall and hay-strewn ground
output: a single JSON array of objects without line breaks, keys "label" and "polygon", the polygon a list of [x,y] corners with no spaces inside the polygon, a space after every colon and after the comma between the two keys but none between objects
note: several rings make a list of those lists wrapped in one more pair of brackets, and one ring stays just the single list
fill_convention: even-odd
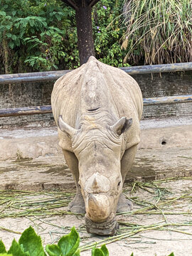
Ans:
[{"label": "whole pale concrete base between brick wall and hay-strewn ground", "polygon": [[[191,175],[192,117],[143,120],[141,129],[127,181]],[[1,189],[74,187],[56,127],[1,129],[0,173]]]}]

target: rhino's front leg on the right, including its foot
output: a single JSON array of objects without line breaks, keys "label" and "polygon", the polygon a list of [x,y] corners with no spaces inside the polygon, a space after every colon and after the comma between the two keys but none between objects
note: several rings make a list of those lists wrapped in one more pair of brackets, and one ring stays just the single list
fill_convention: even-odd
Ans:
[{"label": "rhino's front leg on the right, including its foot", "polygon": [[[121,173],[122,173],[123,183],[128,171],[132,167],[136,152],[137,152],[137,145],[132,146],[130,149],[127,149],[124,152],[124,155],[121,161]],[[129,201],[127,198],[125,198],[124,195],[121,193],[119,196],[119,202],[117,204],[117,213],[125,213],[132,210],[132,208],[133,208],[132,202]]]}]

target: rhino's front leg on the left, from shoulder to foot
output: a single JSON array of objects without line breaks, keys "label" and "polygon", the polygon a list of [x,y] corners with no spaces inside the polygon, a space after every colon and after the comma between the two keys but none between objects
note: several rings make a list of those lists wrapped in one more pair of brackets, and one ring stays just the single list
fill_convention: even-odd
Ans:
[{"label": "rhino's front leg on the left, from shoulder to foot", "polygon": [[78,169],[78,159],[73,152],[63,149],[63,154],[65,156],[65,161],[73,174],[75,185],[77,188],[75,198],[68,204],[68,208],[73,213],[85,213],[85,202],[82,198],[82,193],[80,189],[79,181],[79,169]]}]

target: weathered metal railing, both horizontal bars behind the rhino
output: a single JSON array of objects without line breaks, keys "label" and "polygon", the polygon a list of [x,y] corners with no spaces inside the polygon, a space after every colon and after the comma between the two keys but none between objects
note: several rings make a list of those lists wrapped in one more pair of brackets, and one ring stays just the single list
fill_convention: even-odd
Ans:
[{"label": "weathered metal railing, both horizontal bars behind the rhino", "polygon": [[[137,67],[121,68],[129,75],[149,74],[149,73],[166,73],[176,71],[192,70],[192,63],[175,63],[166,65],[145,65]],[[20,73],[11,75],[0,75],[0,85],[16,84],[21,82],[42,82],[53,81],[72,70],[48,71],[38,73]],[[179,95],[169,97],[151,97],[144,99],[144,105],[161,105],[172,103],[192,102],[192,95]],[[26,114],[45,114],[51,113],[51,106],[36,107],[16,107],[11,109],[1,109],[0,117],[10,117]]]}]

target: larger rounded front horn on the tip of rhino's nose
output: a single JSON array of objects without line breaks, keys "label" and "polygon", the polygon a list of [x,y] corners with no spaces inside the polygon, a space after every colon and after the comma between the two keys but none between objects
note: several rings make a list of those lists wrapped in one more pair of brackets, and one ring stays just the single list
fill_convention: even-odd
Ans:
[{"label": "larger rounded front horn on the tip of rhino's nose", "polygon": [[86,215],[94,222],[103,222],[110,215],[110,201],[103,194],[90,195],[86,203]]}]

